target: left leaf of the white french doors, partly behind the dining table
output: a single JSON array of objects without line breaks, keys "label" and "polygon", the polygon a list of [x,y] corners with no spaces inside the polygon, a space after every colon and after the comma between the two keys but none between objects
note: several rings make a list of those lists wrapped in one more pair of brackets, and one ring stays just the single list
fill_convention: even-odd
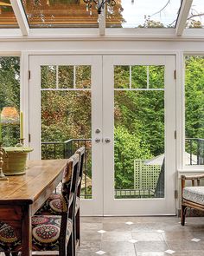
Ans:
[{"label": "left leaf of the white french doors, partly behind the dining table", "polygon": [[69,157],[84,146],[81,214],[102,215],[102,57],[29,56],[29,69],[30,158]]}]

